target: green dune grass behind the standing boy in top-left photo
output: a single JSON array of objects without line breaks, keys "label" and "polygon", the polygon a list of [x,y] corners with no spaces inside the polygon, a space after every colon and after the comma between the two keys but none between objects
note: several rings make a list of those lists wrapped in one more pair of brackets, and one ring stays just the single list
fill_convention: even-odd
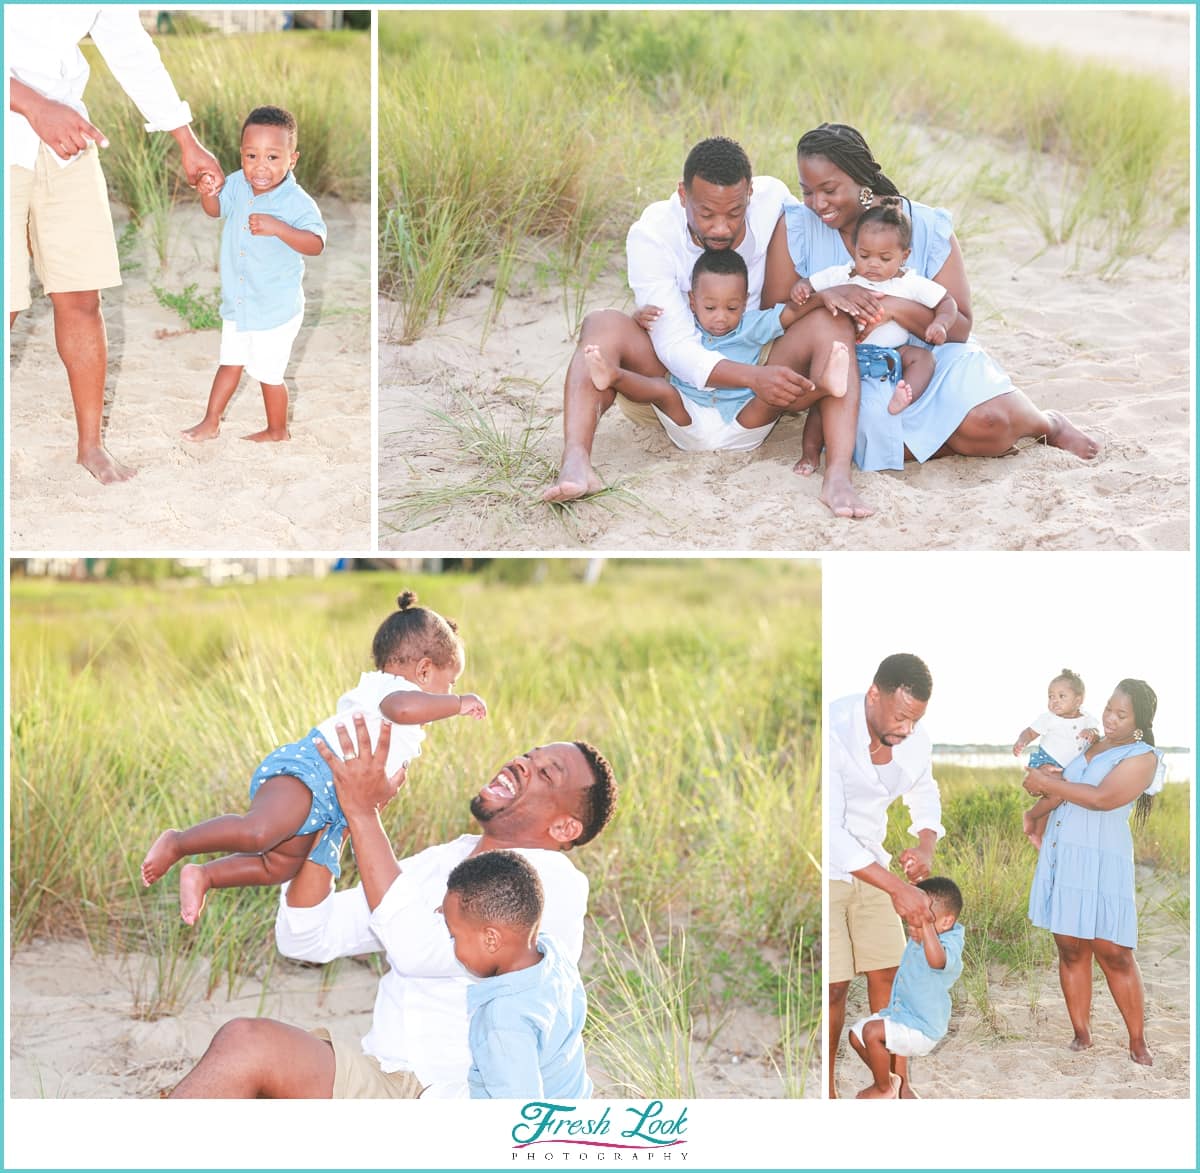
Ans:
[{"label": "green dune grass behind the standing boy in top-left photo", "polygon": [[[371,42],[364,32],[262,32],[161,36],[155,43],[175,89],[192,109],[192,128],[226,174],[238,169],[241,124],[256,106],[282,106],[296,118],[296,181],[314,199],[367,199],[371,184]],[[112,144],[104,151],[109,191],[150,234],[160,261],[169,245],[170,210],[193,199],[168,134],[146,134],[144,119],[90,43],[88,110]]]}]

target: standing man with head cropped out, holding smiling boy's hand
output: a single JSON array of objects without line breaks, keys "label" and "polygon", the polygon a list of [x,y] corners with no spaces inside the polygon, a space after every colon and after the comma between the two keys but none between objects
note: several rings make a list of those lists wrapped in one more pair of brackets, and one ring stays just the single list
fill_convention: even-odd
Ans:
[{"label": "standing man with head cropped out, holding smiling boy's hand", "polygon": [[203,174],[223,182],[221,164],[196,139],[181,102],[137,8],[6,5],[8,54],[6,155],[12,193],[8,217],[8,324],[30,306],[29,257],[54,307],[54,341],[74,404],[76,459],[102,485],[133,469],[109,456],[101,437],[108,338],[100,290],[121,283],[100,168],[103,132],[88,121],[83,91],[90,35],[113,76],[146,119],[179,143],[187,182]]}]

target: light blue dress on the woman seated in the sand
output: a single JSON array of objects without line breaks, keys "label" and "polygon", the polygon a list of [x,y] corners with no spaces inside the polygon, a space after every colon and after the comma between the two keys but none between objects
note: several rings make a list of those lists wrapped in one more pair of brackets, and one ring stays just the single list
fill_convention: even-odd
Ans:
[{"label": "light blue dress on the woman seated in the sand", "polygon": [[[944,207],[906,203],[912,217],[908,267],[934,279],[950,254],[953,223]],[[788,204],[787,247],[802,277],[851,260],[835,228],[803,204]],[[1013,381],[973,342],[947,342],[932,348],[908,336],[908,344],[934,350],[934,377],[916,403],[899,415],[888,414],[893,385],[887,379],[862,379],[854,463],[865,473],[902,469],[905,447],[922,463],[947,441],[966,414],[997,395],[1014,390]]]}]

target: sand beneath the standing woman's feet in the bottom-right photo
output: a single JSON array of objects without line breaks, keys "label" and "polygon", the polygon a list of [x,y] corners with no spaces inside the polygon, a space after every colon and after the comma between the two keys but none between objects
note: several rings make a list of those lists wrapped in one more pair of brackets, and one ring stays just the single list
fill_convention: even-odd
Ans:
[{"label": "sand beneath the standing woman's feet in the bottom-right photo", "polygon": [[[955,988],[946,1039],[914,1059],[913,1087],[924,1099],[1090,1100],[1187,1099],[1190,1094],[1190,985],[1187,921],[1164,907],[1169,889],[1146,868],[1138,872],[1138,964],[1146,986],[1146,1040],[1154,1065],[1129,1059],[1128,1035],[1103,976],[1092,989],[1090,1051],[1067,1049],[1070,1022],[1055,964],[1031,973],[994,967],[988,1003]],[[971,932],[970,918],[964,924]],[[865,985],[851,986],[847,1027],[868,1012]],[[842,1041],[839,1093],[852,1096],[869,1079]]]}]

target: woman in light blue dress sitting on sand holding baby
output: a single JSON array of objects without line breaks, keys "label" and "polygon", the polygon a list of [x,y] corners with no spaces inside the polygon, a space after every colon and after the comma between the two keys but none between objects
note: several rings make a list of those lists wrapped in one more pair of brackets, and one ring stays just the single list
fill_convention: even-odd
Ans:
[{"label": "woman in light blue dress sitting on sand holding baby", "polygon": [[[824,122],[798,144],[804,204],[786,209],[787,242],[796,271],[808,277],[851,260],[854,224],[877,197],[901,193],[880,168],[862,134],[851,126]],[[893,387],[884,379],[863,378],[854,463],[864,471],[904,468],[905,459],[1003,456],[1022,437],[1044,437],[1055,447],[1091,459],[1099,445],[1064,415],[1042,411],[1018,391],[1008,375],[973,342],[971,288],[962,253],[944,209],[906,201],[912,218],[908,267],[950,293],[959,315],[949,341],[936,350],[936,369],[925,393],[898,415],[887,410]],[[768,272],[763,305],[786,301],[792,275]],[[911,301],[854,285],[815,295],[830,312],[853,314],[868,330],[887,320],[905,326],[911,342],[922,339],[932,311]],[[812,473],[821,457],[820,415],[809,411],[796,471]]]}]

